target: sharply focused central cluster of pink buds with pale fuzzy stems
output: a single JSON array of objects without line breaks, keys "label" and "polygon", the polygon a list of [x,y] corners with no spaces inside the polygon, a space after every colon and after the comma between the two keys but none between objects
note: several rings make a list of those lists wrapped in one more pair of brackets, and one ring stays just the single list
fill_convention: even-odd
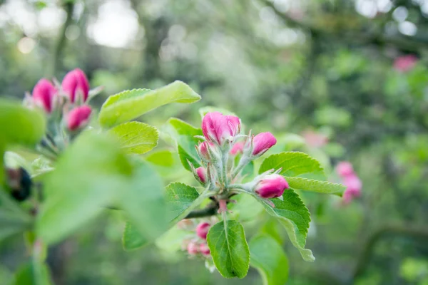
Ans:
[{"label": "sharply focused central cluster of pink buds with pale fuzzy stems", "polygon": [[278,174],[280,170],[269,170],[251,182],[242,183],[245,167],[262,156],[276,144],[271,133],[252,135],[240,134],[241,122],[233,115],[207,113],[202,120],[203,142],[196,146],[202,165],[192,167],[195,179],[213,192],[212,199],[218,202],[219,212],[227,210],[230,197],[239,192],[249,192],[257,197],[282,198],[288,189],[287,181]]}]

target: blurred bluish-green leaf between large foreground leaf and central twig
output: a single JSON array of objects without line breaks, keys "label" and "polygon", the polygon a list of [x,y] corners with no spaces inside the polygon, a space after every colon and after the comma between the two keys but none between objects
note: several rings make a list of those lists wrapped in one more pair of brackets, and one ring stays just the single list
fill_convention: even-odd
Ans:
[{"label": "blurred bluish-green leaf between large foreground leaf and central twig", "polygon": [[163,181],[148,162],[136,159],[133,166],[132,180],[121,189],[119,206],[138,232],[153,241],[168,229]]}]

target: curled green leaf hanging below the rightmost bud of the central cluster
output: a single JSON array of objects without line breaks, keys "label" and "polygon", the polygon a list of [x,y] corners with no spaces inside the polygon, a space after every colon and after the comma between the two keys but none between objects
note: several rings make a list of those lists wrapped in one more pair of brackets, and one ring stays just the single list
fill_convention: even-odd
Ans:
[{"label": "curled green leaf hanging below the rightmost bud of the central cluster", "polygon": [[310,213],[305,204],[293,190],[285,190],[280,199],[270,199],[275,204],[272,207],[265,199],[254,195],[263,204],[268,214],[276,217],[287,230],[288,237],[292,244],[299,249],[305,261],[314,261],[310,249],[305,249],[307,230],[309,229]]}]

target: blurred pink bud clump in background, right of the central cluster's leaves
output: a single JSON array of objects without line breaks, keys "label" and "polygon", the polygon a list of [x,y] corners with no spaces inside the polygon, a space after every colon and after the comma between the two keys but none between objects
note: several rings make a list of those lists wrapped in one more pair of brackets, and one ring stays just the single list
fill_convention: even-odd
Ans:
[{"label": "blurred pink bud clump in background, right of the central cluster's leaves", "polygon": [[354,172],[352,164],[347,161],[339,162],[336,167],[336,172],[342,178],[343,185],[346,186],[346,190],[343,193],[343,202],[349,204],[352,199],[360,197],[362,182]]}]

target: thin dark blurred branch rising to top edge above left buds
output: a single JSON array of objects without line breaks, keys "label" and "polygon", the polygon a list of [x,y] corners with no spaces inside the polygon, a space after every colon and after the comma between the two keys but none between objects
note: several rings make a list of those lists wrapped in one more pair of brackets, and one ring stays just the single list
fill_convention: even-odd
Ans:
[{"label": "thin dark blurred branch rising to top edge above left buds", "polygon": [[64,10],[66,10],[66,21],[64,22],[61,31],[58,33],[58,39],[54,46],[54,51],[52,52],[51,64],[49,66],[48,75],[50,77],[55,76],[56,71],[61,67],[61,54],[64,46],[66,46],[66,31],[68,26],[70,26],[71,21],[73,21],[73,11],[74,11],[74,2],[65,1],[63,4]]}]

